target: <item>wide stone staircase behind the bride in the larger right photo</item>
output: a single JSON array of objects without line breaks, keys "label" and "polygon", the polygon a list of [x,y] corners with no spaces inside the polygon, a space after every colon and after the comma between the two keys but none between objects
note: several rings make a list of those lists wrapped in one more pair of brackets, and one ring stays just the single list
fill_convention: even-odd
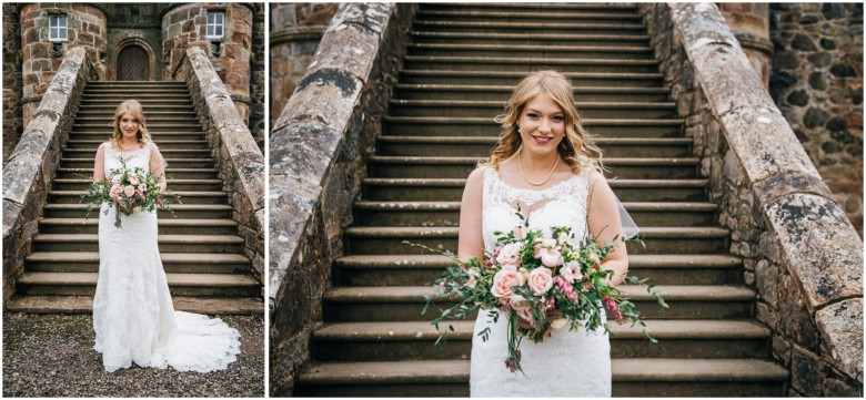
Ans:
[{"label": "wide stone staircase behind the bride in the larger right photo", "polygon": [[454,324],[436,353],[433,315],[421,315],[449,261],[401,242],[456,250],[463,185],[495,143],[493,116],[526,72],[554,68],[576,88],[611,186],[641,226],[647,248],[631,250],[631,271],[671,306],[624,287],[659,342],[612,324],[613,394],[785,396],[787,372],[769,360],[755,293],[728,254],[642,23],[628,4],[420,7],[295,394],[469,396],[473,321]]}]

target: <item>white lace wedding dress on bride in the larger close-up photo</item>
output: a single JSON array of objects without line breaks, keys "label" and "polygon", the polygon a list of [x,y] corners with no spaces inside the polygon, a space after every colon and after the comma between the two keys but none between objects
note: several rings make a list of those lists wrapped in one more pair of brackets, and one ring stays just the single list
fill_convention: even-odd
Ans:
[{"label": "white lace wedding dress on bride in the larger close-up photo", "polygon": [[[528,215],[531,229],[571,226],[575,237],[586,232],[586,174],[574,175],[546,189],[532,191],[511,187],[493,168],[484,171],[482,229],[484,246],[490,249],[496,239],[493,232],[510,232],[520,224],[515,206]],[[524,212],[525,215],[525,212]],[[508,356],[507,317],[499,321],[487,311],[481,311],[472,338],[470,390],[472,397],[610,397],[611,345],[607,335],[600,331],[553,330],[541,343],[521,341],[523,372],[511,372],[505,367]],[[490,327],[487,340],[479,332]]]}]

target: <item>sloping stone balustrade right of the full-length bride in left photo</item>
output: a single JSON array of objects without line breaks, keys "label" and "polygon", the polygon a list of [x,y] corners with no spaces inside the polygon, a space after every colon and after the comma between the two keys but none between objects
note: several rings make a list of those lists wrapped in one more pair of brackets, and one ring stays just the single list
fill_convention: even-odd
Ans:
[{"label": "sloping stone balustrade right of the full-length bride in left photo", "polygon": [[223,189],[231,198],[232,219],[244,238],[243,252],[264,283],[264,155],[204,50],[189,48],[178,65],[174,80],[185,82],[190,90]]}]

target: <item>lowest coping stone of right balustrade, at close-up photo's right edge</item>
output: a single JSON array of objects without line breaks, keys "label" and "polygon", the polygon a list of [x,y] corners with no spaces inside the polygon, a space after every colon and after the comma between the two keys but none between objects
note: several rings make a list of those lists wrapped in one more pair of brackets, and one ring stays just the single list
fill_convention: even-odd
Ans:
[{"label": "lowest coping stone of right balustrade, at close-up photo's right edge", "polygon": [[827,356],[843,372],[863,381],[863,298],[829,305],[815,314],[815,320],[827,338]]}]

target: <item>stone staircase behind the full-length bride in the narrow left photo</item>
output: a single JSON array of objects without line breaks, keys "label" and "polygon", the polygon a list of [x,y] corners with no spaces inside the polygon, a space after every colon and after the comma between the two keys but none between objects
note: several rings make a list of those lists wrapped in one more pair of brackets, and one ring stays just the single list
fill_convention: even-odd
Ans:
[{"label": "stone staircase behind the full-length bride in the narrow left photo", "polygon": [[159,247],[174,307],[202,314],[259,314],[262,285],[250,274],[232,207],[183,82],[90,82],[48,192],[26,271],[7,304],[20,312],[91,312],[99,271],[99,208],[84,220],[80,195],[99,144],[111,137],[121,101],[142,103],[151,139],[169,163],[182,205],[159,212]]}]

